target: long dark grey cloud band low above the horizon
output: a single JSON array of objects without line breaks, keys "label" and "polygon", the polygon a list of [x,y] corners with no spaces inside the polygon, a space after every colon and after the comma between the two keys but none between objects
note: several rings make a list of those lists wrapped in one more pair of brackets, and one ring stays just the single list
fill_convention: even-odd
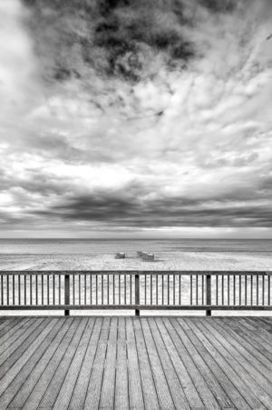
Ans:
[{"label": "long dark grey cloud band low above the horizon", "polygon": [[238,198],[189,199],[175,196],[142,200],[131,192],[96,191],[68,197],[37,215],[59,221],[99,222],[111,226],[156,228],[161,226],[271,227],[272,210],[262,205],[238,203]]}]

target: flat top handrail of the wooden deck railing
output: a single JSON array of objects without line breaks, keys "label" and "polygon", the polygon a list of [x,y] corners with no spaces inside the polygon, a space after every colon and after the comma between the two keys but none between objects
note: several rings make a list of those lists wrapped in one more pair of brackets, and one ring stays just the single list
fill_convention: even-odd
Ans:
[{"label": "flat top handrail of the wooden deck railing", "polygon": [[271,271],[220,270],[0,270],[0,275],[272,275]]}]

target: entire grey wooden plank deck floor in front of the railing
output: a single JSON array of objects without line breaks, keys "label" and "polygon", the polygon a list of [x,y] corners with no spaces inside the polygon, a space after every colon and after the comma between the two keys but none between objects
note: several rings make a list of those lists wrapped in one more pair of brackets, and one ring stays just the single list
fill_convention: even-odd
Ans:
[{"label": "entire grey wooden plank deck floor in front of the railing", "polygon": [[271,317],[0,319],[0,409],[272,409]]}]

